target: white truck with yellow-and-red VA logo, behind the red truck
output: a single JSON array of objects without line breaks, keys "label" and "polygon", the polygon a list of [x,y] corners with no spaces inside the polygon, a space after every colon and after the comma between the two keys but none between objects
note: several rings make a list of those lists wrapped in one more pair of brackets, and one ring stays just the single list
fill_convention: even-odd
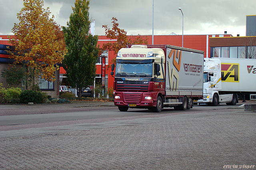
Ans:
[{"label": "white truck with yellow-and-red VA logo, behind the red truck", "polygon": [[203,99],[194,103],[236,105],[256,94],[256,59],[205,58]]}]

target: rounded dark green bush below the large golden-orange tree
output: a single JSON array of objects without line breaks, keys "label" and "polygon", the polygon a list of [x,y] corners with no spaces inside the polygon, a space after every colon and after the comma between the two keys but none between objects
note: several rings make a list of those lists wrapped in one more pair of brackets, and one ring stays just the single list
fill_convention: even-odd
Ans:
[{"label": "rounded dark green bush below the large golden-orange tree", "polygon": [[41,93],[41,91],[24,90],[20,94],[20,103],[44,103],[46,98],[45,94]]}]

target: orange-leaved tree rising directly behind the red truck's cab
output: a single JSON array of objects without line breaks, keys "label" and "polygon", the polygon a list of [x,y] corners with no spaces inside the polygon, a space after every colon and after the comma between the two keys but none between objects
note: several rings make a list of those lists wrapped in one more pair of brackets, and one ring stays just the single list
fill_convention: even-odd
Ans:
[{"label": "orange-leaved tree rising directly behind the red truck's cab", "polygon": [[[112,18],[112,28],[109,28],[108,25],[103,25],[102,28],[105,28],[105,33],[107,38],[110,38],[110,40],[116,40],[115,42],[108,42],[102,45],[102,50],[108,50],[108,51],[114,51],[115,54],[118,53],[118,51],[121,48],[126,48],[127,45],[130,44],[148,44],[148,38],[143,38],[138,34],[136,38],[134,36],[127,36],[127,32],[124,31],[124,29],[118,28],[119,24],[117,22],[118,20],[113,17]],[[112,60],[112,63],[116,62],[116,58]]]}]

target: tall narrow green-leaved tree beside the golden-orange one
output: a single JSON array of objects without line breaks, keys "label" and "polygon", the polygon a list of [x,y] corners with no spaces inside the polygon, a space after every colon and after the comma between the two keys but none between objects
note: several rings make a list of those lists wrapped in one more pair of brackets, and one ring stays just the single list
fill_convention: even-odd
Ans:
[{"label": "tall narrow green-leaved tree beside the golden-orange one", "polygon": [[63,27],[68,50],[63,67],[68,82],[78,90],[78,96],[81,97],[83,89],[92,85],[96,77],[98,36],[89,34],[89,0],[76,0],[72,10],[67,27]]}]

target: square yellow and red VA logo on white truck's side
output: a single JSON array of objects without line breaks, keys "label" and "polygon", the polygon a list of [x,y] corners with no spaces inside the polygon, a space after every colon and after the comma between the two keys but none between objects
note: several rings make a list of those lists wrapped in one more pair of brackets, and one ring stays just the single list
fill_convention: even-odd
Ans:
[{"label": "square yellow and red VA logo on white truck's side", "polygon": [[221,64],[221,81],[239,82],[239,64],[222,63]]}]

